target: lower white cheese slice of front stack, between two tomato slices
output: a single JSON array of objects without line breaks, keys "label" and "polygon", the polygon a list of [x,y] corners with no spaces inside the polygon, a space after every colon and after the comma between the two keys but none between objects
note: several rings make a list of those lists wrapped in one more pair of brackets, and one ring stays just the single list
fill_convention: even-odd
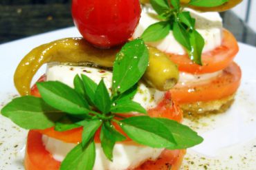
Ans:
[{"label": "lower white cheese slice of front stack, between two tomato slices", "polygon": [[[75,147],[73,143],[62,142],[55,138],[43,136],[42,141],[46,150],[49,151],[53,158],[58,161],[64,160],[67,153]],[[164,149],[154,149],[141,145],[128,145],[116,143],[113,148],[113,162],[109,161],[104,155],[100,144],[96,144],[96,158],[94,170],[126,170],[138,167],[146,160],[156,160]]]}]

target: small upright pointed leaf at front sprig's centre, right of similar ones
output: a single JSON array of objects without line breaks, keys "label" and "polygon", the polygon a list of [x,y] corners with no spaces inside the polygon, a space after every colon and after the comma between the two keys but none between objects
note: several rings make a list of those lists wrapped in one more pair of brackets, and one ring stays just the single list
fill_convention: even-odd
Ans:
[{"label": "small upright pointed leaf at front sprig's centre, right of similar ones", "polygon": [[111,107],[111,99],[109,97],[109,92],[107,92],[107,87],[104,84],[103,79],[100,81],[96,91],[94,102],[96,107],[102,111],[103,114],[107,114]]}]

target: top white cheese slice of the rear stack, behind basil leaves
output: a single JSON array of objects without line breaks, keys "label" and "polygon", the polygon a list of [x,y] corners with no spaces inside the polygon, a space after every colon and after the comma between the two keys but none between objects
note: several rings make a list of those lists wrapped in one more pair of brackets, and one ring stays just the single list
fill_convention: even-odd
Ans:
[{"label": "top white cheese slice of the rear stack, behind basil leaves", "polygon": [[[218,12],[196,12],[195,10],[185,8],[185,11],[189,11],[191,16],[196,19],[196,30],[203,36],[205,40],[205,46],[203,47],[203,52],[208,52],[214,50],[214,48],[221,45],[222,41],[222,19]],[[141,12],[140,22],[133,34],[133,38],[141,36],[143,32],[152,25],[160,20],[156,18],[156,13],[154,10],[143,10]],[[161,41],[147,43],[153,47],[158,48],[166,53],[172,54],[186,54],[185,49],[182,47],[176,39],[172,31]]]}]

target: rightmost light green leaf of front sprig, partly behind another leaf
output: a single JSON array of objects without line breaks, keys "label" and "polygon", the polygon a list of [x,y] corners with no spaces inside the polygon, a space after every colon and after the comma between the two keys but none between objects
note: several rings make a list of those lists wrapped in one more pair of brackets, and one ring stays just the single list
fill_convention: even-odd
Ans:
[{"label": "rightmost light green leaf of front sprig, partly behind another leaf", "polygon": [[198,134],[188,126],[182,125],[181,123],[177,123],[176,121],[167,118],[155,119],[167,127],[177,143],[177,145],[168,147],[167,149],[186,149],[203,142],[203,138],[198,136]]}]

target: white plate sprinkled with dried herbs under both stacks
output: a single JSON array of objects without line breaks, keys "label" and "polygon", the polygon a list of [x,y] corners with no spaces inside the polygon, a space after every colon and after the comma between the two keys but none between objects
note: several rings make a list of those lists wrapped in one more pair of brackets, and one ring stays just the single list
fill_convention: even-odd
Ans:
[{"label": "white plate sprinkled with dried herbs under both stacks", "polygon": [[[17,95],[12,77],[24,55],[37,45],[68,36],[80,34],[75,28],[66,28],[0,45],[1,106]],[[243,78],[235,103],[226,114],[203,118],[193,125],[204,142],[188,149],[182,169],[255,169],[256,48],[242,43],[239,47],[235,61],[241,66]],[[37,75],[44,71],[42,67]],[[189,120],[185,123],[191,124]],[[0,169],[24,169],[26,133],[0,115]]]}]

